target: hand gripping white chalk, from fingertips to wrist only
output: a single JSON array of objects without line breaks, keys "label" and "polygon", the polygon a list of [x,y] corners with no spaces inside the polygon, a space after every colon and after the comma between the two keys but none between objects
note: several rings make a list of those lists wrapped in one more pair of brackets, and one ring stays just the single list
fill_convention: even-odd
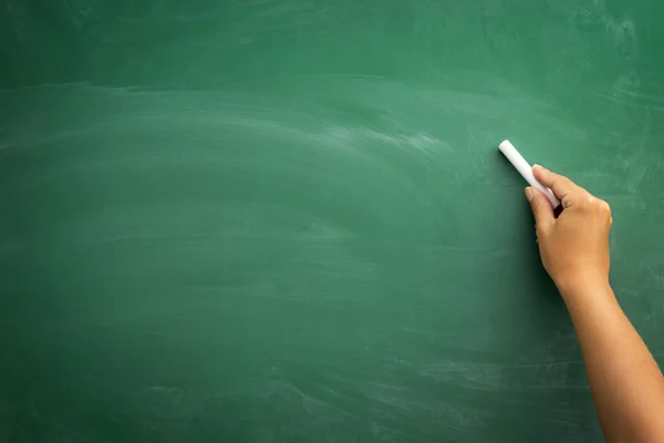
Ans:
[{"label": "hand gripping white chalk, from fingertips to wrist only", "polygon": [[532,173],[563,207],[556,218],[547,197],[533,187],[526,188],[542,264],[560,292],[564,297],[577,286],[609,285],[609,231],[613,223],[609,204],[541,166],[533,166]]}]

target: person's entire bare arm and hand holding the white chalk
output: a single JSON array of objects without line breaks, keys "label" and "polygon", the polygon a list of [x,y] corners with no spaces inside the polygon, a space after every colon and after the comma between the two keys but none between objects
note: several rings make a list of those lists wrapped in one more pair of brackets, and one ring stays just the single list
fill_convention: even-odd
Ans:
[{"label": "person's entire bare arm and hand holding the white chalk", "polygon": [[568,307],[585,362],[592,398],[608,442],[664,442],[664,378],[622,311],[609,284],[606,202],[541,166],[535,177],[560,198],[526,188],[542,264]]}]

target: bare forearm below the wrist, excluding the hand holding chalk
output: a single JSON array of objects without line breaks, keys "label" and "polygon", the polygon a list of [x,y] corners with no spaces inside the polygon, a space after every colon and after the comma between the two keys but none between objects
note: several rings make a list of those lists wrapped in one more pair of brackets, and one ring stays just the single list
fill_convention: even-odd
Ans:
[{"label": "bare forearm below the wrist, excluding the hand holding chalk", "polygon": [[664,379],[608,282],[561,290],[609,442],[664,441]]}]

